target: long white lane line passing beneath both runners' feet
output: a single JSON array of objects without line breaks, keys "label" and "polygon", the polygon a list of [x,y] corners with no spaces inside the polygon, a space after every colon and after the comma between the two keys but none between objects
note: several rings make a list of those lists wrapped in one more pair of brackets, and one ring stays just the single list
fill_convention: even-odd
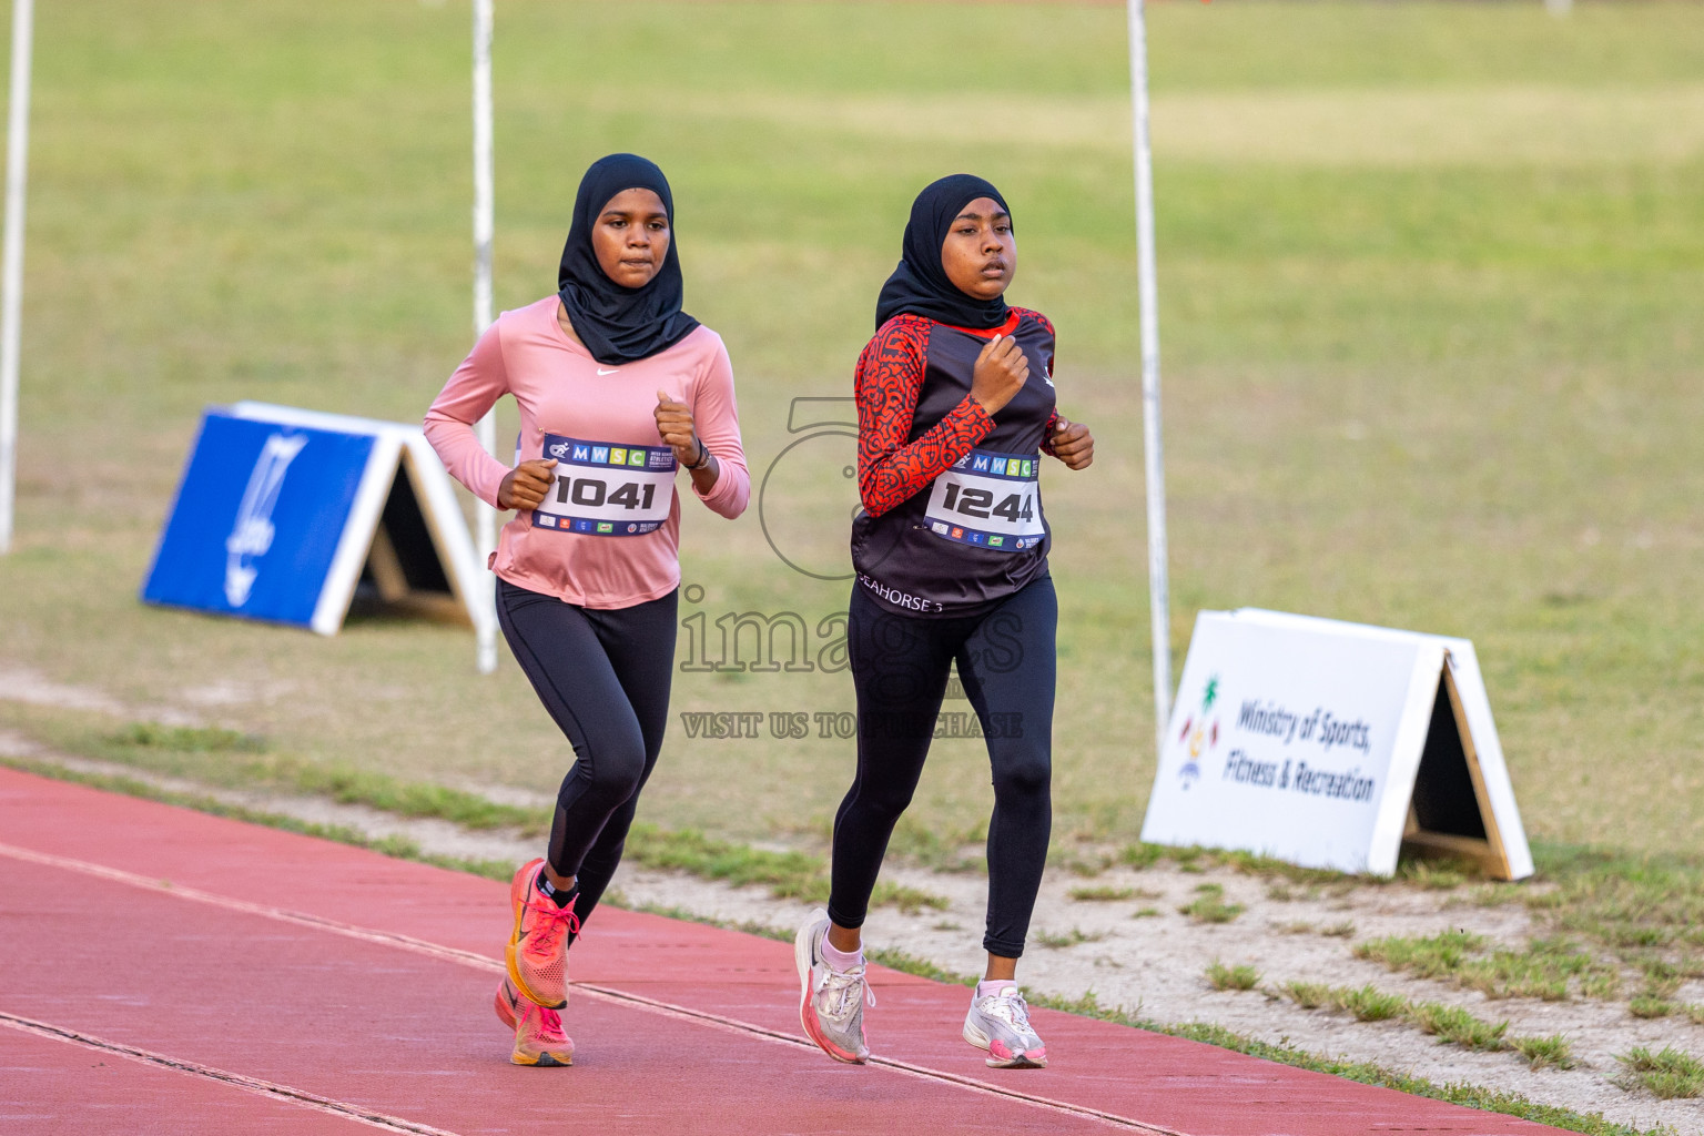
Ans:
[{"label": "long white lane line passing beneath both runners' feet", "polygon": [[[472,950],[462,950],[458,947],[445,947],[441,944],[435,944],[424,938],[414,938],[411,935],[399,935],[395,932],[380,932],[365,927],[356,927],[353,923],[344,923],[341,920],[327,920],[324,916],[307,915],[303,911],[290,911],[288,908],[273,908],[262,903],[250,903],[247,899],[220,896],[210,891],[201,891],[198,887],[184,887],[182,884],[169,884],[165,881],[138,875],[135,872],[124,872],[123,869],[106,867],[104,863],[73,860],[70,857],[58,857],[49,852],[36,852],[34,848],[19,848],[17,845],[5,845],[5,843],[0,843],[0,855],[7,855],[12,857],[14,860],[24,860],[29,863],[43,863],[46,867],[65,869],[68,872],[80,872],[83,875],[94,875],[118,884],[128,884],[131,887],[141,887],[145,891],[177,896],[179,899],[206,903],[216,908],[225,908],[227,911],[242,911],[245,915],[257,915],[261,918],[276,920],[279,923],[295,923],[296,927],[308,927],[319,932],[343,935],[344,938],[354,938],[358,942],[395,947],[399,950],[423,954],[431,959],[441,959],[445,962],[458,962],[462,966],[470,966],[474,969],[486,971],[489,974],[506,972],[506,966],[498,959],[491,959],[487,955],[475,954]],[[796,1034],[782,1034],[780,1030],[772,1030],[765,1025],[755,1025],[751,1022],[741,1022],[740,1018],[731,1018],[719,1013],[707,1013],[704,1010],[694,1010],[690,1007],[680,1007],[670,1001],[658,1001],[654,998],[646,998],[642,995],[627,993],[624,990],[615,990],[610,986],[593,986],[588,983],[571,983],[571,986],[576,991],[590,998],[596,998],[600,1001],[624,1003],[663,1017],[685,1018],[699,1025],[709,1025],[722,1032],[755,1037],[758,1041],[767,1041],[772,1044],[792,1046],[796,1049],[809,1049],[809,1051],[816,1049],[816,1044],[808,1041],[806,1037]],[[1159,1124],[1145,1124],[1142,1121],[1135,1121],[1131,1117],[1120,1116],[1116,1112],[1106,1112],[1102,1109],[1092,1109],[1089,1105],[1072,1104],[1068,1100],[1053,1100],[1051,1097],[1038,1097],[1036,1093],[1002,1088],[999,1085],[990,1085],[988,1081],[980,1081],[971,1076],[963,1076],[959,1073],[947,1073],[944,1070],[932,1070],[924,1064],[912,1064],[910,1061],[871,1056],[869,1063],[874,1066],[893,1070],[895,1073],[903,1073],[907,1076],[917,1076],[930,1081],[944,1081],[990,1097],[1019,1100],[1034,1105],[1038,1109],[1050,1109],[1053,1112],[1065,1112],[1089,1121],[1099,1121],[1113,1127],[1121,1127],[1138,1133],[1154,1133],[1154,1136],[1186,1136],[1186,1133],[1181,1133],[1177,1129],[1162,1127]]]}]

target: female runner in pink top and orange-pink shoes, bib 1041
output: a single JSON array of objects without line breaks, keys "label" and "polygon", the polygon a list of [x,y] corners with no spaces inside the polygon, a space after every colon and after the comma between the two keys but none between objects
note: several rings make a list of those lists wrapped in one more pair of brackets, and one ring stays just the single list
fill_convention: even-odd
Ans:
[{"label": "female runner in pink top and orange-pink shoes, bib 1041", "polygon": [[[515,509],[491,569],[498,622],[574,746],[549,855],[515,874],[498,1017],[516,1064],[569,1064],[567,947],[622,858],[663,746],[675,666],[675,473],[726,518],[751,492],[721,337],[680,310],[673,196],[651,162],[586,170],[561,291],[492,324],[426,412],[445,468]],[[474,436],[504,393],[520,405],[511,470]]]}]

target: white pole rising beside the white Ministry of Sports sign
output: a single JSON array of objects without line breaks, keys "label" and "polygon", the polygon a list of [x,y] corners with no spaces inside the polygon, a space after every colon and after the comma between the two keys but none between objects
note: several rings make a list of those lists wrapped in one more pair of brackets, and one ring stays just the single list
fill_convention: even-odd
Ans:
[{"label": "white pole rising beside the white Ministry of Sports sign", "polygon": [[1142,450],[1148,485],[1148,618],[1154,627],[1154,744],[1171,720],[1171,594],[1166,581],[1166,456],[1160,451],[1160,313],[1154,274],[1154,152],[1148,146],[1148,43],[1142,0],[1130,22],[1130,128],[1137,152],[1137,293],[1142,305]]}]

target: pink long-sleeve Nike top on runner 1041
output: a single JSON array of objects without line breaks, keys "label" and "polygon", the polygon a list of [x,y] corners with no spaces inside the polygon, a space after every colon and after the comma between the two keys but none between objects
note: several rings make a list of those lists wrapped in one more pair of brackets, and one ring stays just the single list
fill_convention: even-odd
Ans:
[{"label": "pink long-sleeve Nike top on runner 1041", "polygon": [[[663,390],[692,407],[699,438],[721,463],[711,491],[694,485],[694,494],[721,516],[740,516],[751,475],[721,336],[700,325],[666,351],[607,366],[567,337],[556,322],[557,305],[547,296],[498,317],[433,400],[426,438],[450,475],[486,504],[498,504],[509,467],[486,453],[474,422],[503,395],[515,395],[520,405],[521,460],[556,456],[544,453],[545,438],[556,436],[607,446],[605,458],[620,446],[644,446],[648,456],[666,462],[654,453],[663,446],[653,416]],[[557,472],[562,468],[559,462]],[[586,608],[630,608],[666,596],[680,584],[680,497],[671,485],[665,489],[673,497],[668,519],[637,535],[620,525],[608,535],[569,531],[566,523],[545,528],[535,525],[533,513],[520,511],[503,526],[491,569],[511,584]]]}]

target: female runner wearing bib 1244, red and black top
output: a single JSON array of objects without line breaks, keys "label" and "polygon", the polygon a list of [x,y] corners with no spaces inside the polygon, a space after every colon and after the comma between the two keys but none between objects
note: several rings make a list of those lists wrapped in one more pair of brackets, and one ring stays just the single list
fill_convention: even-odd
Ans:
[{"label": "female runner wearing bib 1244, red and black top", "polygon": [[864,509],[852,521],[847,627],[857,777],[835,818],[828,909],[796,940],[801,1022],[840,1061],[869,1053],[859,928],[956,663],[995,800],[988,969],[963,1034],[990,1066],[1046,1064],[1014,979],[1051,828],[1058,605],[1038,470],[1041,453],[1087,467],[1094,438],[1053,405],[1053,325],[1005,303],[1016,266],[1000,192],[968,174],[934,182],[912,204],[857,363]]}]

